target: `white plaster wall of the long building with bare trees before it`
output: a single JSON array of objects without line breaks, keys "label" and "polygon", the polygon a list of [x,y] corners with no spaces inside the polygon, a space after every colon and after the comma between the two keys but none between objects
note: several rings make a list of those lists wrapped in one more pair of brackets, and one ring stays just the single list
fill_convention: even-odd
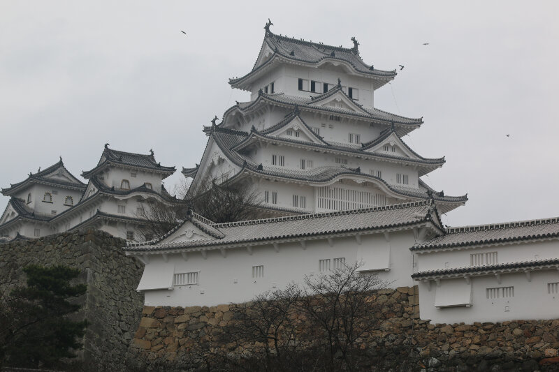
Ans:
[{"label": "white plaster wall of the long building with bare trees before it", "polygon": [[[305,275],[319,274],[319,260],[346,259],[351,265],[356,260],[374,258],[370,251],[386,249],[390,244],[390,271],[380,271],[379,277],[389,281],[390,287],[412,285],[412,254],[409,246],[414,243],[413,232],[395,232],[390,243],[384,235],[362,237],[361,246],[354,237],[333,239],[333,246],[326,239],[307,241],[303,249],[298,242],[279,244],[279,252],[273,245],[252,247],[252,255],[245,248],[226,250],[226,257],[217,251],[209,251],[207,259],[201,253],[187,254],[185,261],[179,253],[168,255],[164,262],[160,255],[150,255],[145,266],[144,283],[161,281],[161,276],[173,273],[199,271],[199,285],[175,286],[173,290],[146,290],[145,304],[149,306],[212,306],[229,302],[243,302],[266,290],[284,288],[295,281],[302,283]],[[365,262],[367,263],[367,262]],[[264,266],[263,278],[252,278],[252,267]],[[201,293],[203,292],[203,293]]]}]

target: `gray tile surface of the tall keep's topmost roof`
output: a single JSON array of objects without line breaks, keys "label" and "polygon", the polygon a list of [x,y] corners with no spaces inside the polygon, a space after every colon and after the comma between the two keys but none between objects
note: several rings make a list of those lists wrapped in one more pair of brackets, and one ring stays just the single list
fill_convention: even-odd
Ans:
[{"label": "gray tile surface of the tall keep's topmost roof", "polygon": [[297,40],[296,38],[288,38],[273,34],[266,31],[266,36],[262,44],[262,48],[268,45],[274,51],[273,55],[260,66],[254,64],[252,70],[247,75],[230,79],[229,84],[235,87],[247,78],[252,77],[260,70],[266,68],[269,64],[273,64],[277,57],[281,57],[284,61],[293,61],[295,63],[317,65],[324,60],[344,61],[354,68],[354,70],[363,75],[384,78],[391,80],[396,75],[395,70],[377,70],[359,57],[356,48],[335,47],[333,45],[325,45],[321,43],[312,43],[311,41]]}]

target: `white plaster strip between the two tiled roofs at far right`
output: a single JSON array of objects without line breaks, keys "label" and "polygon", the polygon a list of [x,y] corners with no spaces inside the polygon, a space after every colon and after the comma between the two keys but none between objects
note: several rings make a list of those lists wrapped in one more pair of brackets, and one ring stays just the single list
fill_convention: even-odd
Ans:
[{"label": "white plaster strip between the two tiled roofs at far right", "polygon": [[559,241],[537,241],[523,244],[507,244],[454,251],[419,253],[419,270],[437,270],[452,267],[469,267],[470,255],[497,252],[498,263],[545,260],[559,257]]}]

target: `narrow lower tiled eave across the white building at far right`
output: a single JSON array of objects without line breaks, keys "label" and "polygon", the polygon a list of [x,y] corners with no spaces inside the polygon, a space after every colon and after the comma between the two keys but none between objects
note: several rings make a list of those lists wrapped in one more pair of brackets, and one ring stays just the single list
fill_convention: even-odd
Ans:
[{"label": "narrow lower tiled eave across the white building at far right", "polygon": [[485,265],[485,266],[470,266],[470,267],[456,267],[453,269],[440,269],[418,271],[412,274],[414,279],[427,279],[427,278],[452,278],[467,275],[484,275],[496,274],[504,272],[524,271],[526,269],[558,269],[559,258],[549,260],[532,260],[521,262],[509,262],[498,265]]}]

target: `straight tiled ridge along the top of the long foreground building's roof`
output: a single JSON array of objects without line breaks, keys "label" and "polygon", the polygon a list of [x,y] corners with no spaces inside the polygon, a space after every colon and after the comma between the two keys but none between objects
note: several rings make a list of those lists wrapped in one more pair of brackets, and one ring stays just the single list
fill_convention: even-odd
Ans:
[{"label": "straight tiled ridge along the top of the long foreground building's roof", "polygon": [[310,218],[324,218],[329,216],[343,216],[346,214],[361,214],[361,213],[370,213],[373,211],[385,211],[385,210],[392,210],[392,209],[404,209],[409,207],[421,207],[423,205],[430,204],[430,200],[419,200],[416,202],[406,202],[400,204],[389,204],[384,205],[382,207],[370,207],[370,208],[361,208],[361,209],[349,209],[345,211],[331,211],[331,212],[321,212],[321,213],[313,213],[313,214],[302,214],[298,216],[282,216],[282,217],[273,217],[273,218],[260,218],[256,220],[247,220],[247,221],[235,221],[235,222],[226,222],[226,223],[216,223],[213,225],[213,228],[233,228],[235,226],[245,226],[245,225],[257,225],[260,223],[273,223],[273,222],[282,222],[282,221],[293,221],[293,220],[304,220]]}]

